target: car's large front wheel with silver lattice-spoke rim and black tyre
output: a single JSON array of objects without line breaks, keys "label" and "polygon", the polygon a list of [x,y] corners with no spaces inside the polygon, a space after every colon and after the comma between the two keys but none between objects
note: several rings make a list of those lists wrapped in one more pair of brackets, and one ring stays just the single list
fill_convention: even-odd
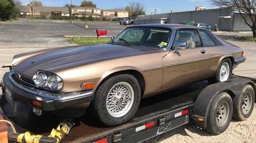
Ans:
[{"label": "car's large front wheel with silver lattice-spoke rim and black tyre", "polygon": [[130,74],[119,74],[105,80],[91,102],[92,113],[107,126],[125,123],[140,104],[140,85]]}]

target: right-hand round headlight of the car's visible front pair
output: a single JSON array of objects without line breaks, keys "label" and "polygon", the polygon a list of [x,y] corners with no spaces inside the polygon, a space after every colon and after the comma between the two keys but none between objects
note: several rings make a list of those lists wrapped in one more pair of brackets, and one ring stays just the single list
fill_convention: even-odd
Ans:
[{"label": "right-hand round headlight of the car's visible front pair", "polygon": [[48,87],[51,90],[60,90],[63,86],[63,83],[61,81],[61,79],[58,76],[55,76],[54,74],[51,74],[48,77]]}]

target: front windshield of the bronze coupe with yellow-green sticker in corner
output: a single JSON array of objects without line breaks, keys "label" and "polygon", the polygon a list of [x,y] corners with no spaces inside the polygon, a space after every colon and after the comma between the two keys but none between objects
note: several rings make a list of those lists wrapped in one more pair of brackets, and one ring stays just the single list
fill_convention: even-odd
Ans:
[{"label": "front windshield of the bronze coupe with yellow-green sticker in corner", "polygon": [[166,48],[171,36],[170,29],[152,27],[131,27],[114,38],[114,42]]}]

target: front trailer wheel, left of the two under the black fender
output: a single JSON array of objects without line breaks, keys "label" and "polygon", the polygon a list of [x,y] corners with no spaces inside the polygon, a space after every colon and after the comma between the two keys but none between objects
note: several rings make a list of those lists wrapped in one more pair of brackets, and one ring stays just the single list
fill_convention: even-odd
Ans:
[{"label": "front trailer wheel, left of the two under the black fender", "polygon": [[214,135],[226,131],[231,122],[233,103],[230,95],[222,92],[215,96],[209,107],[206,130]]}]

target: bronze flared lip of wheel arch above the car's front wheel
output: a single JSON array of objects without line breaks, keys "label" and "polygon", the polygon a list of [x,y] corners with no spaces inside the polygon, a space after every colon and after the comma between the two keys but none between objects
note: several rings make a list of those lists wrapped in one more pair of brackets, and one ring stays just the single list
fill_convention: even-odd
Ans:
[{"label": "bronze flared lip of wheel arch above the car's front wheel", "polygon": [[[126,71],[126,70],[135,70],[137,72],[140,72],[140,74],[142,74],[142,71],[140,69],[138,69],[137,67],[133,67],[133,66],[120,66],[120,67],[114,67],[108,71],[106,71],[102,77],[99,79],[99,81],[97,82],[96,84],[96,88],[95,90],[97,89],[97,87],[101,84],[101,82],[108,76],[110,76],[111,74],[114,74],[116,72],[122,72],[122,71]],[[142,74],[143,75],[143,74]],[[143,76],[144,78],[144,76]],[[145,84],[146,84],[146,80],[144,78],[144,81],[145,81]]]}]

